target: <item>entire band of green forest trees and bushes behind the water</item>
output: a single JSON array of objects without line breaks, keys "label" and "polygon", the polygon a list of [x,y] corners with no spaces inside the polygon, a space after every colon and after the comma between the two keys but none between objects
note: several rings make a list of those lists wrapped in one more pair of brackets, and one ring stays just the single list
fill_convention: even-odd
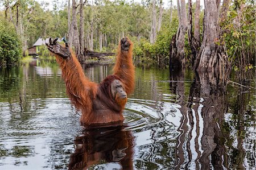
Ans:
[{"label": "entire band of green forest trees and bushes behind the water", "polygon": [[[245,76],[255,66],[255,2],[0,1],[0,65],[17,63],[38,38],[65,38],[79,61],[85,51],[115,52],[134,42],[134,63]],[[47,55],[48,51],[42,51]]]}]

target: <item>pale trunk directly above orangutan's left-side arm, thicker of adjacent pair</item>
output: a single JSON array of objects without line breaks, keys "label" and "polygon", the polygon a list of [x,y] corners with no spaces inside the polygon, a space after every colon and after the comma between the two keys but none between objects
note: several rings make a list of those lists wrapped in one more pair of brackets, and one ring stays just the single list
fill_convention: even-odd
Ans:
[{"label": "pale trunk directly above orangutan's left-side arm, thicker of adjacent pair", "polygon": [[75,53],[79,61],[80,58],[80,42],[79,42],[79,33],[77,31],[77,20],[76,20],[76,0],[72,1],[72,31],[73,31],[73,46],[75,47]]}]

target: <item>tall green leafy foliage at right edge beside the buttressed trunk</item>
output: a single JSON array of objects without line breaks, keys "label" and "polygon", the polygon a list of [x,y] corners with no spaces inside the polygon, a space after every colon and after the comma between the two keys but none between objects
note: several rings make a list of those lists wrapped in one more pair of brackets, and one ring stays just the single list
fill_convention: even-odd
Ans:
[{"label": "tall green leafy foliage at right edge beside the buttressed trunk", "polygon": [[228,17],[221,23],[222,40],[226,45],[234,71],[252,69],[255,56],[255,5],[248,0],[235,1],[229,7]]}]

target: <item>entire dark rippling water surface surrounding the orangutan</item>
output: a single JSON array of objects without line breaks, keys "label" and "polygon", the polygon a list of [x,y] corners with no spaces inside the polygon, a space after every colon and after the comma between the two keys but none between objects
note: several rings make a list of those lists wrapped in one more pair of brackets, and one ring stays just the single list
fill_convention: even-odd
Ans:
[{"label": "entire dark rippling water surface surrounding the orangutan", "polygon": [[[111,68],[85,73],[100,82]],[[255,169],[255,89],[192,71],[136,75],[126,126],[85,130],[56,63],[0,68],[0,169]]]}]

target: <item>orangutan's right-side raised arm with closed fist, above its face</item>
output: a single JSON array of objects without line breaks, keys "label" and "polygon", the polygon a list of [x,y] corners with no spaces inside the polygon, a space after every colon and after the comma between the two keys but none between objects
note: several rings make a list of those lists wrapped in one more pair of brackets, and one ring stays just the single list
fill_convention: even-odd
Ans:
[{"label": "orangutan's right-side raised arm with closed fist, above its face", "polygon": [[133,65],[133,43],[128,38],[122,38],[118,46],[114,74],[125,84],[125,91],[131,94],[134,90],[135,70]]}]

